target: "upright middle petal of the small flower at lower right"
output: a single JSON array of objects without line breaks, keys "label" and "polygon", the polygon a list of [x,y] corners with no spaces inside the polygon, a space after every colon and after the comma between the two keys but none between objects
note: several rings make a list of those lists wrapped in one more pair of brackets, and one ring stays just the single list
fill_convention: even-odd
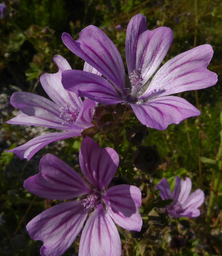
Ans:
[{"label": "upright middle petal of the small flower at lower right", "polygon": [[190,194],[191,187],[192,183],[190,178],[186,177],[185,180],[182,180],[177,176],[173,191],[173,198],[180,204],[183,204]]}]

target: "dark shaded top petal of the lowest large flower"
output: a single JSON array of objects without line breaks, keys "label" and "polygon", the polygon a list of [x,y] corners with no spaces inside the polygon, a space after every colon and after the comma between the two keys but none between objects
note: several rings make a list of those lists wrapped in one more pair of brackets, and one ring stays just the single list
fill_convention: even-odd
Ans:
[{"label": "dark shaded top petal of the lowest large flower", "polygon": [[117,172],[119,156],[114,149],[102,149],[90,137],[85,137],[79,151],[79,163],[85,178],[98,189],[105,189]]}]

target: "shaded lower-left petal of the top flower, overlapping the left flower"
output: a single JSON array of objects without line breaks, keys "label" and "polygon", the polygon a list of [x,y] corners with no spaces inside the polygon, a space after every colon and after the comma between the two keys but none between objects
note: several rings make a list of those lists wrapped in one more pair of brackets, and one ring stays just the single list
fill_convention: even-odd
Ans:
[{"label": "shaded lower-left petal of the top flower, overlapping the left flower", "polygon": [[102,104],[117,104],[123,100],[105,78],[81,70],[67,70],[62,73],[62,84],[66,90]]}]

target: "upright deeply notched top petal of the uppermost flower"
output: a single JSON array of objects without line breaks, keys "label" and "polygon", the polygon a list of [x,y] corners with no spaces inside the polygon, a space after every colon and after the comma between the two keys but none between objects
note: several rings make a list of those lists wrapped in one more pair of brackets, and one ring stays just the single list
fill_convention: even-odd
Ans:
[{"label": "upright deeply notched top petal of the uppermost flower", "polygon": [[163,61],[173,41],[173,31],[167,27],[147,30],[142,14],[134,16],[127,27],[125,40],[129,74],[140,70],[144,85]]}]

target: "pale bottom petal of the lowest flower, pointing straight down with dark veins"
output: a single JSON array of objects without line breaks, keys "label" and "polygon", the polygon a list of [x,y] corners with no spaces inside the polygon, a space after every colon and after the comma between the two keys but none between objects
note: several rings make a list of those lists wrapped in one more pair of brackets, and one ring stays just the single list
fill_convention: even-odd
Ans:
[{"label": "pale bottom petal of the lowest flower, pointing straight down with dark veins", "polygon": [[79,256],[120,256],[121,241],[113,220],[102,205],[90,215],[79,244]]}]

